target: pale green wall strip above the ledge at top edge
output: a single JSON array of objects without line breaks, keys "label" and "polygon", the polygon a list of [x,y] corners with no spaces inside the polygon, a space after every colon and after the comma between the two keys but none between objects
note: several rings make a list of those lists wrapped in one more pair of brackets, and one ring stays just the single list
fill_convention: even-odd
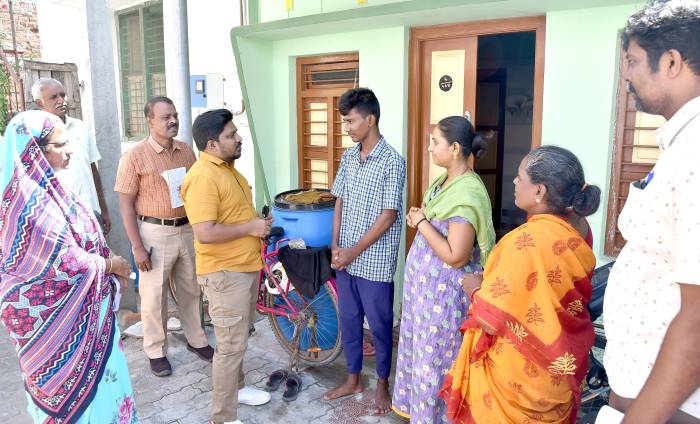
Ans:
[{"label": "pale green wall strip above the ledge at top edge", "polygon": [[287,11],[285,0],[257,0],[251,3],[257,5],[260,22],[269,22],[400,1],[405,0],[367,0],[367,3],[361,5],[357,3],[357,0],[294,0],[294,8],[290,11]]}]

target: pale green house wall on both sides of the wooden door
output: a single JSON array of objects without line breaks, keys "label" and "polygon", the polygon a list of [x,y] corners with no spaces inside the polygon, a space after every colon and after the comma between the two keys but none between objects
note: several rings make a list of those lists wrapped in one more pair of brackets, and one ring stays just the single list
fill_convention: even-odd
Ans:
[{"label": "pale green house wall on both sides of the wooden door", "polygon": [[[301,0],[295,2],[295,7],[300,4]],[[546,15],[543,143],[574,151],[584,164],[587,180],[603,191],[601,208],[590,219],[595,252],[602,261],[606,260],[603,242],[619,77],[618,33],[627,17],[643,5],[630,2]],[[273,195],[296,187],[298,181],[294,86],[298,56],[358,51],[360,85],[377,93],[382,104],[380,128],[406,155],[409,30],[392,26],[283,40],[234,34],[251,130]],[[262,201],[261,177],[256,171],[258,202]]]}]

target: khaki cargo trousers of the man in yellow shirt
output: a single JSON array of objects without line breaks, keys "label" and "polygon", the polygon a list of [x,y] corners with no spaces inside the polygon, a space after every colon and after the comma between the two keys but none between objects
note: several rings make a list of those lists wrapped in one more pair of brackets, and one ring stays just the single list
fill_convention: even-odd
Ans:
[{"label": "khaki cargo trousers of the man in yellow shirt", "polygon": [[211,419],[237,419],[238,390],[245,386],[243,357],[248,330],[255,317],[258,272],[218,271],[197,276],[209,300],[209,316],[216,335],[212,365]]}]

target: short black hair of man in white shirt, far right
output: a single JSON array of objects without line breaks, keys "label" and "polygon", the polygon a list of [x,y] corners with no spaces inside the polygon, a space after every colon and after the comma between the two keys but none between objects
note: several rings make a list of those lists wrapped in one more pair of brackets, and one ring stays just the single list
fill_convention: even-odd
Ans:
[{"label": "short black hair of man in white shirt, far right", "polygon": [[700,75],[700,2],[653,1],[627,21],[622,47],[627,50],[631,41],[646,51],[652,72],[659,70],[661,55],[674,49]]}]

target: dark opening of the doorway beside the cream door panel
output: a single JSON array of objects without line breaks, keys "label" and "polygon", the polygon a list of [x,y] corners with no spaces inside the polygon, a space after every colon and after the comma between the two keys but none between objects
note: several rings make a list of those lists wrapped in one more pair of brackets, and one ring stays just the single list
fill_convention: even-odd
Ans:
[{"label": "dark opening of the doorway beside the cream door panel", "polygon": [[478,38],[474,121],[489,146],[474,169],[489,191],[498,238],[525,221],[515,206],[513,179],[532,147],[534,73],[534,31]]}]

